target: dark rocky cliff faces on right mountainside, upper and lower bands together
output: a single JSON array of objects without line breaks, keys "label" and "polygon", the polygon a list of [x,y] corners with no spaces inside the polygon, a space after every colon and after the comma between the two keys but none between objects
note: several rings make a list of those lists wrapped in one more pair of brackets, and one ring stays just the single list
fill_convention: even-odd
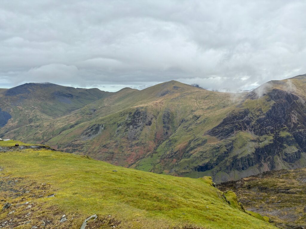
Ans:
[{"label": "dark rocky cliff faces on right mountainside, upper and lower bands together", "polygon": [[[252,98],[252,93],[248,97]],[[265,166],[264,170],[272,170],[278,166],[275,165],[275,156],[291,164],[299,162],[305,151],[305,100],[280,89],[273,89],[267,93],[266,100],[273,101],[273,105],[262,117],[255,116],[248,108],[233,111],[207,134],[225,140],[242,131],[252,133],[257,138],[268,135],[271,137],[270,142],[263,146],[255,146],[255,150],[250,154],[235,155],[225,163],[225,157],[236,150],[226,147],[225,153],[218,155],[215,161],[210,160],[196,166],[196,171],[204,172],[218,164],[222,167],[220,171],[226,173],[231,170],[246,170],[255,165]]]}]

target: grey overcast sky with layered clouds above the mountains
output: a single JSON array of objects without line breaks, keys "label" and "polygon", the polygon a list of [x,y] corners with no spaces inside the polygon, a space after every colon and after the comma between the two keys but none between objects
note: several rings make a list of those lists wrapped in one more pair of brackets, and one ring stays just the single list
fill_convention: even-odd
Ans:
[{"label": "grey overcast sky with layered clouds above the mountains", "polygon": [[220,91],[306,73],[305,0],[2,0],[0,87]]}]

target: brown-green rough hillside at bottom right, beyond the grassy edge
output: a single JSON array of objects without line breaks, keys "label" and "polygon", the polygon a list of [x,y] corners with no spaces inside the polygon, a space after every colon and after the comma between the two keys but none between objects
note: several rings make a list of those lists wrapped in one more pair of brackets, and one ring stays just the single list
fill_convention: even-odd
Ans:
[{"label": "brown-green rough hillside at bottom right, beyond the grassy edge", "polygon": [[306,168],[268,171],[218,188],[234,191],[246,209],[269,217],[280,228],[306,227]]}]

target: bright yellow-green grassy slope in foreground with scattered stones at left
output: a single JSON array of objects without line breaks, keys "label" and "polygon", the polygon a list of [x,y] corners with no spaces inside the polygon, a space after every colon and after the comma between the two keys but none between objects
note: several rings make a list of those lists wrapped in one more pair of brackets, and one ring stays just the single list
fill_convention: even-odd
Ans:
[{"label": "bright yellow-green grassy slope in foreground with scattered stones at left", "polygon": [[148,173],[16,141],[0,142],[0,158],[2,228],[80,228],[95,214],[86,228],[275,228],[210,177]]}]

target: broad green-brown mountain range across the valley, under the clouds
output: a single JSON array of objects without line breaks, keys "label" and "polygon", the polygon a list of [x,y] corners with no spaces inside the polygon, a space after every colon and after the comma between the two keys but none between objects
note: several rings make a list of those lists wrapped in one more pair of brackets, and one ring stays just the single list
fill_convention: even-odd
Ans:
[{"label": "broad green-brown mountain range across the valley, under the clouds", "polygon": [[216,182],[306,166],[306,75],[244,93],[170,81],[116,93],[25,84],[0,98],[0,137],[114,165]]}]

